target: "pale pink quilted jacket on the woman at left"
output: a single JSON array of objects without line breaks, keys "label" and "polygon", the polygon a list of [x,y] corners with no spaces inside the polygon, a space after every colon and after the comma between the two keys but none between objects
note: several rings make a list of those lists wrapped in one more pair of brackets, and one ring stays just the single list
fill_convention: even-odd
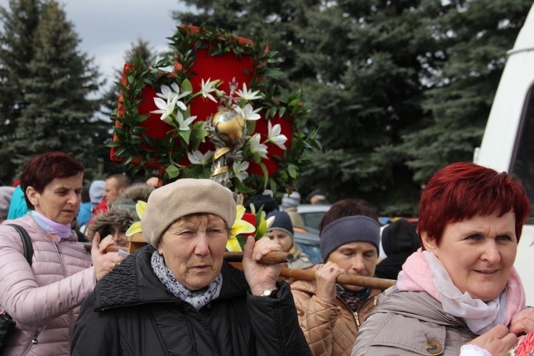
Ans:
[{"label": "pale pink quilted jacket on the woman at left", "polygon": [[[33,264],[23,255],[18,224],[33,244]],[[0,310],[16,321],[2,355],[70,355],[79,305],[95,288],[90,254],[76,235],[56,244],[31,214],[0,225]]]}]

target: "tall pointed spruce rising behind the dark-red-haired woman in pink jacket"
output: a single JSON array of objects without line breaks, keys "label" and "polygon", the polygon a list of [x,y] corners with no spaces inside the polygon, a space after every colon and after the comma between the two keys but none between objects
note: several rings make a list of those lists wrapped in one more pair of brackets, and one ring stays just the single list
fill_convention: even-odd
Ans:
[{"label": "tall pointed spruce rising behind the dark-red-haired woman in pink jacket", "polygon": [[16,140],[10,142],[14,163],[23,164],[34,155],[63,150],[95,167],[91,120],[97,100],[88,100],[98,89],[98,72],[92,60],[76,48],[78,36],[56,1],[41,5],[33,34],[33,53],[27,62],[28,78],[21,79],[26,107],[17,121]]}]

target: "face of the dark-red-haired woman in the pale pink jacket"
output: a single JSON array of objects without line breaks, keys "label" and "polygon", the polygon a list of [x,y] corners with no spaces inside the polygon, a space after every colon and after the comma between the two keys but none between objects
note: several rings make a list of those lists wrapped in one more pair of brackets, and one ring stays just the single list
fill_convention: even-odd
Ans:
[{"label": "face of the dark-red-haired woman in the pale pink jacket", "polygon": [[35,211],[59,224],[70,224],[78,214],[82,194],[83,176],[78,174],[66,178],[54,178],[39,193],[33,187],[26,189],[26,195]]}]

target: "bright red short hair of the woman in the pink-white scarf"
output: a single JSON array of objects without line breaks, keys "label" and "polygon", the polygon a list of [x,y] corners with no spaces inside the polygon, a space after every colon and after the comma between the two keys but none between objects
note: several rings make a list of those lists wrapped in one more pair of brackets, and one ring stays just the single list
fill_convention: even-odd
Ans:
[{"label": "bright red short hair of the woman in the pink-white scarf", "polygon": [[423,191],[419,203],[419,239],[425,232],[439,246],[447,224],[495,211],[498,216],[513,211],[519,242],[530,214],[530,202],[523,186],[506,172],[498,173],[473,163],[449,164],[431,177]]}]

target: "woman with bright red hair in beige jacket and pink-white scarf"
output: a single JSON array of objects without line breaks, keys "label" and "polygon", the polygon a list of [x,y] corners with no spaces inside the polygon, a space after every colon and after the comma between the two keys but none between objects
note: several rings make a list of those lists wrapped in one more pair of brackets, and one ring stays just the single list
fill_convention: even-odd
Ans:
[{"label": "woman with bright red hair in beige jacket and pink-white scarf", "polygon": [[471,163],[439,170],[419,204],[422,248],[379,297],[352,355],[506,355],[534,329],[513,268],[529,212],[506,172]]}]

